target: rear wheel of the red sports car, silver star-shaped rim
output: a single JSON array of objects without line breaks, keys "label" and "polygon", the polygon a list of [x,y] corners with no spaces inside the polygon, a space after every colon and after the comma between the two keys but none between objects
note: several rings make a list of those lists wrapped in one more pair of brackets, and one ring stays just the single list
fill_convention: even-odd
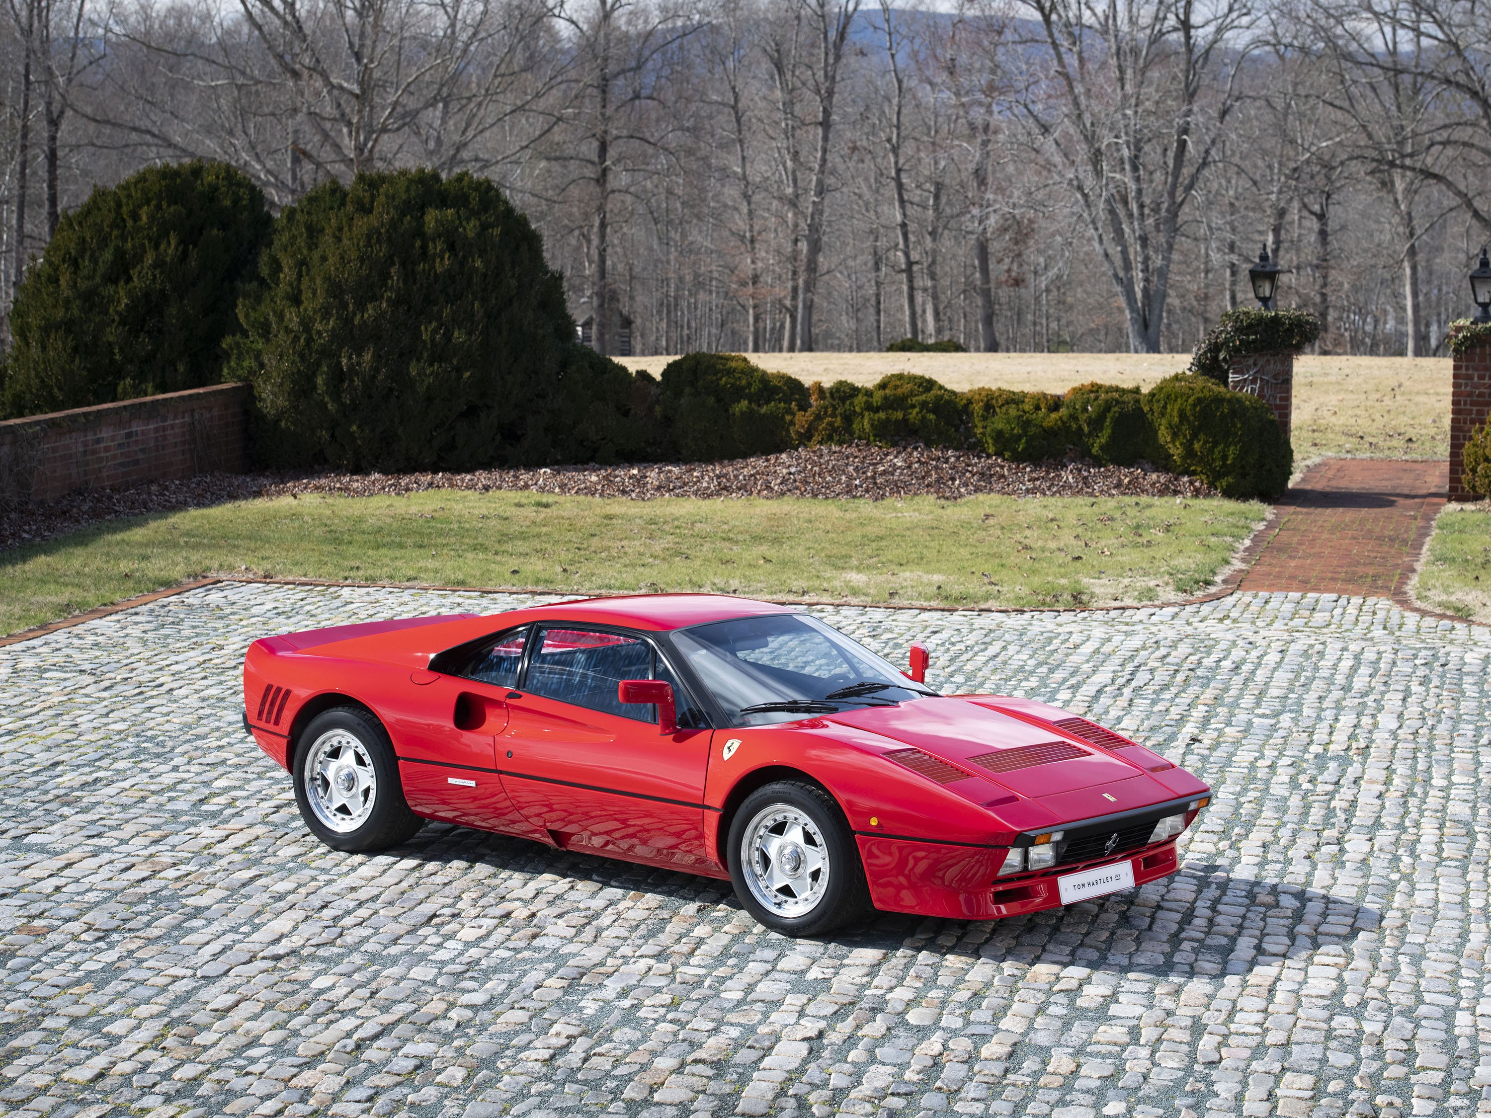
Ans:
[{"label": "rear wheel of the red sports car, silver star-shaped rim", "polygon": [[[325,763],[312,781],[310,766],[321,759]],[[332,707],[312,719],[295,742],[291,774],[300,817],[332,850],[388,850],[425,826],[404,800],[388,732],[359,707]],[[310,784],[324,792],[312,792]]]}]

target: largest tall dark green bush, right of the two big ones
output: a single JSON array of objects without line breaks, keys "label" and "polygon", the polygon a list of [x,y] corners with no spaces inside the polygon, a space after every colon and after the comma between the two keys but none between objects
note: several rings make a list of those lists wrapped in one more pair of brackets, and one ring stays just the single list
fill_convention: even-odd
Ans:
[{"label": "largest tall dark green bush, right of the two big ones", "polygon": [[465,470],[629,456],[625,370],[574,343],[559,273],[471,174],[361,174],[280,215],[234,368],[274,464]]}]

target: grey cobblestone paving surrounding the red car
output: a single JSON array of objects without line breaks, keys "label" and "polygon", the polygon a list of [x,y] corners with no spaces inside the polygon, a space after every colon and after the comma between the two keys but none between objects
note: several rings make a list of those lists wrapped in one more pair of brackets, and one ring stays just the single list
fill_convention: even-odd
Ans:
[{"label": "grey cobblestone paving surrounding the red car", "polygon": [[1212,781],[1163,882],[763,933],[719,882],[431,826],[338,854],[239,726],[256,635],[520,598],[215,586],[0,651],[24,1115],[1491,1112],[1491,635],[1387,602],[822,613]]}]

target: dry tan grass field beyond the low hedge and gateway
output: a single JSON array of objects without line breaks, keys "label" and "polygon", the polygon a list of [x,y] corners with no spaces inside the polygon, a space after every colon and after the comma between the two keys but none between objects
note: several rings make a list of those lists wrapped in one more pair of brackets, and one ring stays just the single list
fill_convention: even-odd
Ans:
[{"label": "dry tan grass field beyond the low hedge and gateway", "polygon": [[[920,373],[965,392],[1015,388],[1065,392],[1085,380],[1150,388],[1190,353],[757,353],[762,368],[805,382],[872,385]],[[655,376],[672,358],[626,358]],[[1294,462],[1325,455],[1443,458],[1449,453],[1448,358],[1315,358],[1294,362]]]}]

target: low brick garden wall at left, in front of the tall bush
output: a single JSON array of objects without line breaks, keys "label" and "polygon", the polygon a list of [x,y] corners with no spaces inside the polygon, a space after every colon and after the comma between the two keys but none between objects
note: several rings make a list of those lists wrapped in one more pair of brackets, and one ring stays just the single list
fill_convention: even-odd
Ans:
[{"label": "low brick garden wall at left, in front of the tall bush", "polygon": [[248,468],[248,385],[213,385],[0,422],[0,499],[48,501]]}]

